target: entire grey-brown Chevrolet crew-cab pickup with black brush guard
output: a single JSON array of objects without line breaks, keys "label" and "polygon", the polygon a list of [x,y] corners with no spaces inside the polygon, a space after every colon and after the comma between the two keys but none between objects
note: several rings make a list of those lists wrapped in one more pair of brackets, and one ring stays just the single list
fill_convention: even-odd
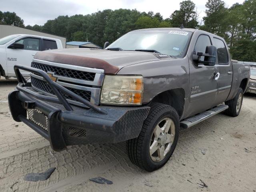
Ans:
[{"label": "entire grey-brown Chevrolet crew-cab pickup with black brush guard", "polygon": [[53,150],[126,141],[132,163],[147,171],[169,160],[180,127],[238,116],[250,77],[223,38],[188,28],[135,30],[102,50],[37,52],[31,67],[14,70],[12,117]]}]

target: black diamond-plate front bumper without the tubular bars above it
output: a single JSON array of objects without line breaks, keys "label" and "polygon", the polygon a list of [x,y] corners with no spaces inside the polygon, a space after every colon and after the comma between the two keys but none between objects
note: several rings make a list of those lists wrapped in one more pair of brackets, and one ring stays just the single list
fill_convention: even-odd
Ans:
[{"label": "black diamond-plate front bumper without the tubular bars above it", "polygon": [[138,137],[150,107],[102,107],[108,114],[42,102],[14,90],[8,96],[12,117],[50,141],[55,151],[69,145],[116,143]]}]

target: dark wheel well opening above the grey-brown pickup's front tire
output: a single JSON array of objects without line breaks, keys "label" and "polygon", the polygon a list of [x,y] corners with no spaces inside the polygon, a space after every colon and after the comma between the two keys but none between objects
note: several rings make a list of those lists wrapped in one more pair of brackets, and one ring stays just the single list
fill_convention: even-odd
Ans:
[{"label": "dark wheel well opening above the grey-brown pickup's front tire", "polygon": [[175,88],[157,94],[151,102],[158,102],[172,106],[181,118],[185,106],[185,90]]}]

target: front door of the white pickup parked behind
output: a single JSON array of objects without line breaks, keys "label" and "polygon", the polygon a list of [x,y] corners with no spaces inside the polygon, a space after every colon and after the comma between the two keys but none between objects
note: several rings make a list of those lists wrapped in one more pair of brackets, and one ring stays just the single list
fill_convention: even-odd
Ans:
[{"label": "front door of the white pickup parked behind", "polygon": [[[23,44],[23,49],[6,48],[6,63],[8,76],[15,76],[14,65],[20,64],[24,66],[31,66],[34,55],[40,50],[40,38],[22,38],[16,43]],[[29,76],[29,72],[22,71],[25,76]]]}]

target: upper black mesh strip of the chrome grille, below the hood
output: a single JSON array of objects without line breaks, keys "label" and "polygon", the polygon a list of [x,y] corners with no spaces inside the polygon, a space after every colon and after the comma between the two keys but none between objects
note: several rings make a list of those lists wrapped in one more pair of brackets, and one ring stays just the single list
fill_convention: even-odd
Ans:
[{"label": "upper black mesh strip of the chrome grille, below the hood", "polygon": [[55,75],[73,78],[73,79],[93,81],[95,78],[95,73],[92,73],[92,72],[85,72],[85,71],[73,70],[73,69],[62,68],[57,66],[50,66],[50,65],[36,63],[36,62],[32,62],[31,67],[41,69],[44,72],[52,72]]}]

